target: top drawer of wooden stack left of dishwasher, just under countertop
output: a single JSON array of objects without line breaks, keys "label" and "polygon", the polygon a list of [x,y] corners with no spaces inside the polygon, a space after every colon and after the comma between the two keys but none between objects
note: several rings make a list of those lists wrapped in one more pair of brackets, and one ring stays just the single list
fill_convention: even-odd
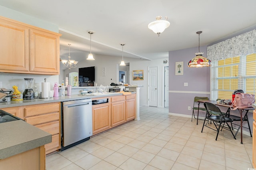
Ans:
[{"label": "top drawer of wooden stack left of dishwasher, just under countertop", "polygon": [[60,111],[60,103],[31,105],[25,108],[25,117]]}]

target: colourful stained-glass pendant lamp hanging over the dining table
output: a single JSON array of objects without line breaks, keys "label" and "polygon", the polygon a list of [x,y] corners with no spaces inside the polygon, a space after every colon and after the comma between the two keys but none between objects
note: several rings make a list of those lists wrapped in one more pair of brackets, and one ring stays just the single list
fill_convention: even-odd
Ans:
[{"label": "colourful stained-glass pendant lamp hanging over the dining table", "polygon": [[200,53],[200,34],[201,33],[202,31],[196,32],[196,34],[198,34],[198,37],[199,37],[198,53],[195,53],[196,57],[194,57],[192,60],[188,62],[188,67],[208,67],[212,65],[211,64],[212,61],[204,57],[203,53]]}]

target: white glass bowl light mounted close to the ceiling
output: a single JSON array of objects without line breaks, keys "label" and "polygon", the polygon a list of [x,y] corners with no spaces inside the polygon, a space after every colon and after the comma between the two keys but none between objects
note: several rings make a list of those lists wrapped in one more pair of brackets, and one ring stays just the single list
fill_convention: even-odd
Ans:
[{"label": "white glass bowl light mounted close to the ceiling", "polygon": [[166,20],[161,20],[161,18],[162,16],[157,16],[156,21],[150,22],[148,24],[148,28],[156,33],[158,36],[170,26],[170,22],[167,21],[167,16],[165,17]]}]

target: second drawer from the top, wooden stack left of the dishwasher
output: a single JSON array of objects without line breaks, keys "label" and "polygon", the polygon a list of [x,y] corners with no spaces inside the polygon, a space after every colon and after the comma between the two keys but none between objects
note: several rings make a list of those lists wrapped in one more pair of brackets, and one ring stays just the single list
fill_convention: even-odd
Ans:
[{"label": "second drawer from the top, wooden stack left of the dishwasher", "polygon": [[60,119],[60,113],[50,113],[45,115],[39,115],[34,117],[27,117],[25,121],[31,125],[38,125],[41,123],[51,122],[51,121],[58,121]]}]

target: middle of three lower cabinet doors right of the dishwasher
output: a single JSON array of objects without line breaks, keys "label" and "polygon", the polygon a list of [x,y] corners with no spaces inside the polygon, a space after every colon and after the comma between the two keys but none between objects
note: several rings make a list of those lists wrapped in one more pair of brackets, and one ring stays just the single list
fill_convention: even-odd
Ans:
[{"label": "middle of three lower cabinet doors right of the dishwasher", "polygon": [[125,122],[125,96],[111,97],[111,127]]}]

